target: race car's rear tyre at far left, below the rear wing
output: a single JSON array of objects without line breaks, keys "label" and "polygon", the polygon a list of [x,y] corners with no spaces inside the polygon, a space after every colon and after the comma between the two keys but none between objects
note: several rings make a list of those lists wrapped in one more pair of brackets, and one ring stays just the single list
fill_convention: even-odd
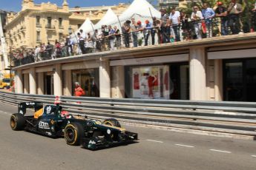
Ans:
[{"label": "race car's rear tyre at far left, below the rear wing", "polygon": [[14,113],[10,116],[10,127],[13,130],[23,130],[25,123],[26,120],[24,119],[24,116],[19,113]]}]

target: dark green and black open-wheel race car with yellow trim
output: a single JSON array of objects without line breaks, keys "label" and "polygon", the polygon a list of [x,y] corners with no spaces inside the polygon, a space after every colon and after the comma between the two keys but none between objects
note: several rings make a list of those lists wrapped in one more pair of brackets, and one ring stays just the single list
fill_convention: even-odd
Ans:
[{"label": "dark green and black open-wheel race car with yellow trim", "polygon": [[[34,109],[34,115],[25,116],[27,108]],[[10,127],[50,137],[64,136],[68,145],[92,150],[138,140],[137,133],[121,128],[114,118],[101,122],[82,115],[72,116],[59,104],[43,106],[41,102],[19,103],[19,113],[11,115]]]}]

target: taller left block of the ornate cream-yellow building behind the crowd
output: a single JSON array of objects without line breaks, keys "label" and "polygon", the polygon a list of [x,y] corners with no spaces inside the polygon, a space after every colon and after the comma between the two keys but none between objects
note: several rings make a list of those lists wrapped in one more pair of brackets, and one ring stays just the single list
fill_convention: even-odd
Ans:
[{"label": "taller left block of the ornate cream-yellow building behind the crowd", "polygon": [[24,0],[22,11],[7,15],[4,28],[8,49],[30,49],[41,43],[59,41],[63,35],[68,35],[69,16],[67,1],[57,7],[56,4],[34,4],[33,0]]}]

